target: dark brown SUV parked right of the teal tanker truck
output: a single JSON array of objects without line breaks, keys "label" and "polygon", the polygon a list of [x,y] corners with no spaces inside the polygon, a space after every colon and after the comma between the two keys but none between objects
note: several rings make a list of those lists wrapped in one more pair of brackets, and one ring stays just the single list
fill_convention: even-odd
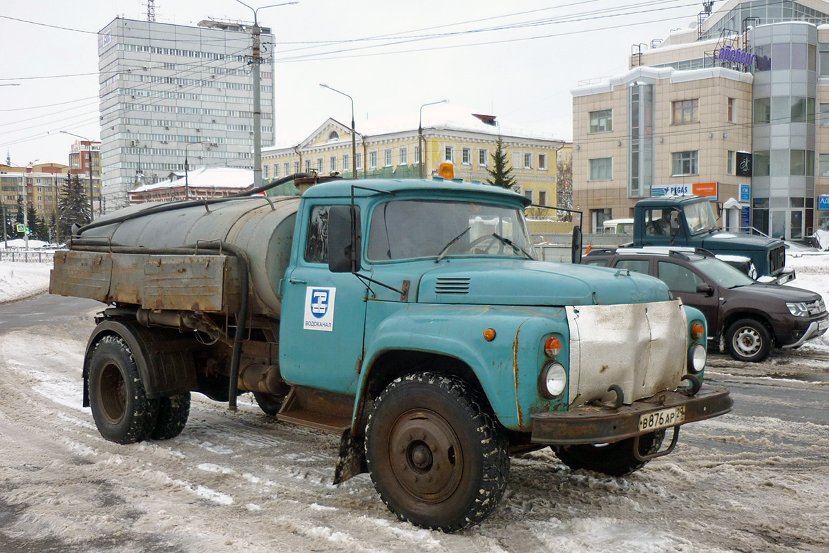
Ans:
[{"label": "dark brown SUV parked right of the teal tanker truck", "polygon": [[799,347],[829,327],[819,293],[761,284],[706,250],[594,250],[581,262],[662,279],[675,298],[705,313],[709,347],[725,347],[737,361],[762,361],[772,347]]}]

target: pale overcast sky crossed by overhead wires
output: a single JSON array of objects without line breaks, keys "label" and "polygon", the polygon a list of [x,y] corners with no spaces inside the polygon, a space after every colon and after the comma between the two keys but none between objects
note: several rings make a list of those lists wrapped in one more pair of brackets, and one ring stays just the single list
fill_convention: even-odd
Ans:
[{"label": "pale overcast sky crossed by overhead wires", "polygon": [[[279,0],[246,0],[253,7]],[[723,2],[715,2],[715,9]],[[628,70],[634,44],[696,22],[700,0],[300,0],[259,11],[276,41],[278,144],[327,117],[356,128],[449,99],[511,129],[572,138],[570,90]],[[252,21],[236,0],[156,0],[157,22]],[[114,17],[147,18],[147,0],[0,0],[0,159],[67,163],[97,140],[97,36]],[[429,108],[426,108],[429,109]],[[268,144],[264,145],[265,147]]]}]

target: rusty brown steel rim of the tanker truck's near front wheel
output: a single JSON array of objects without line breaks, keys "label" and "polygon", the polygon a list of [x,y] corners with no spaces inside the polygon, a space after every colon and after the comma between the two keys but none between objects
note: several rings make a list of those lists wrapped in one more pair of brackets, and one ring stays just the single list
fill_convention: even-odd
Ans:
[{"label": "rusty brown steel rim of the tanker truck's near front wheel", "polygon": [[463,476],[463,449],[451,424],[432,410],[408,410],[389,435],[389,461],[400,488],[419,502],[445,501]]}]

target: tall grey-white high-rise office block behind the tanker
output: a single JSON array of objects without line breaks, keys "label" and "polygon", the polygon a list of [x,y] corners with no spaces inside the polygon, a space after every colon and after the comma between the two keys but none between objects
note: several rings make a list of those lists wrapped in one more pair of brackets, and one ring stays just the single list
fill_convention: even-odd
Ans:
[{"label": "tall grey-white high-rise office block behind the tanker", "polygon": [[[262,142],[274,139],[273,35],[261,29]],[[104,210],[195,167],[252,168],[251,26],[115,18],[99,36]]]}]

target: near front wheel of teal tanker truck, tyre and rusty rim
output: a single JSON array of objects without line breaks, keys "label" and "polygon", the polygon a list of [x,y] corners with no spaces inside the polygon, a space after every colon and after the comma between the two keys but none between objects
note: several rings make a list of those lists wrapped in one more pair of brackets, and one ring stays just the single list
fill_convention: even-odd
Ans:
[{"label": "near front wheel of teal tanker truck, tyre and rusty rim", "polygon": [[393,381],[366,425],[366,462],[401,521],[445,532],[486,518],[507,487],[505,432],[466,383],[434,373]]}]

